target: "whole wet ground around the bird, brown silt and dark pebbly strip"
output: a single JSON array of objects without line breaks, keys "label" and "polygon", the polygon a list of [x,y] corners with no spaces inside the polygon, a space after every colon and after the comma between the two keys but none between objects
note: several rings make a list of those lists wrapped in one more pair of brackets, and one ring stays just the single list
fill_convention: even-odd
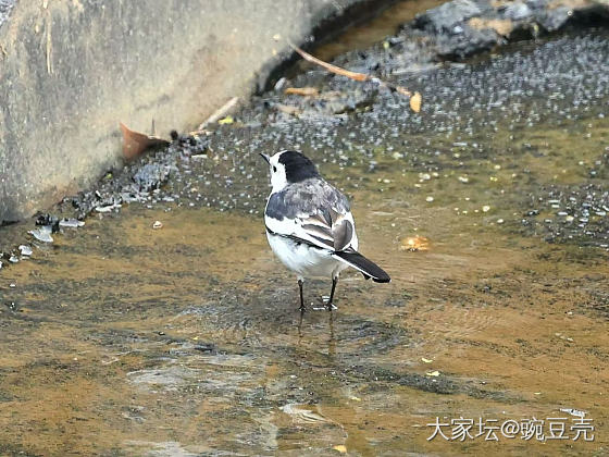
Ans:
[{"label": "whole wet ground around the bird, brown silt and dark pebbly strip", "polygon": [[[161,188],[67,200],[98,210],[0,271],[0,454],[605,455],[608,38],[394,75],[420,114],[310,70],[284,84],[320,96],[264,94],[144,158]],[[300,317],[261,219],[257,152],[285,147],[349,195],[390,284],[344,274],[337,311]],[[328,287],[308,283],[309,306]],[[573,440],[579,411],[594,441]],[[436,418],[456,440],[427,440]],[[460,418],[482,435],[460,441]],[[485,441],[533,418],[570,439]]]}]

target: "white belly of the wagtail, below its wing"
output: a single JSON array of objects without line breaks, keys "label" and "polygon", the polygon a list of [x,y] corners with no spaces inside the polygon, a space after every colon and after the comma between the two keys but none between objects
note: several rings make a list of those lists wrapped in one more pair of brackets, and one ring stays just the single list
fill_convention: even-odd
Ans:
[{"label": "white belly of the wagtail, below its wing", "polygon": [[333,258],[330,251],[312,248],[304,243],[269,232],[266,238],[275,256],[299,277],[334,277],[348,267]]}]

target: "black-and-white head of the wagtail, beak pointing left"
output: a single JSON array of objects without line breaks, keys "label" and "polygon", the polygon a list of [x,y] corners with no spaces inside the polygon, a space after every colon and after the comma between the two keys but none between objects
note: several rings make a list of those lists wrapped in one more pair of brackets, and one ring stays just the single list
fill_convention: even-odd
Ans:
[{"label": "black-and-white head of the wagtail, beak pointing left", "polygon": [[260,153],[269,162],[273,192],[279,192],[288,184],[299,183],[320,175],[318,169],[302,152],[279,151],[274,156]]}]

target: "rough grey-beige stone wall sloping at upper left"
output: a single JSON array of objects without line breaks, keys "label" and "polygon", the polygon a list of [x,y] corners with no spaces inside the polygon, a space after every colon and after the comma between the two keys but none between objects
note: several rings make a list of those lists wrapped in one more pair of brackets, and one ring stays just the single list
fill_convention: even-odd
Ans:
[{"label": "rough grey-beige stone wall sloping at upper left", "polygon": [[0,0],[0,223],[28,217],[119,164],[119,122],[147,133],[154,123],[163,136],[192,129],[232,97],[262,86],[290,55],[286,38],[302,42],[349,9],[380,5],[13,3]]}]

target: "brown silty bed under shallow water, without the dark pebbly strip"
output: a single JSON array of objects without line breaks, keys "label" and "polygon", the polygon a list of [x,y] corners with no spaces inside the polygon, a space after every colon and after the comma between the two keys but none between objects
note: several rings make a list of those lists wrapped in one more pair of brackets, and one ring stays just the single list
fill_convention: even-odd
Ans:
[{"label": "brown silty bed under shallow water, without the dark pebbly strip", "polygon": [[[607,250],[522,228],[559,220],[543,188],[606,172],[607,119],[575,114],[525,128],[514,110],[496,129],[408,133],[393,150],[361,134],[351,139],[370,157],[343,164],[343,152],[318,153],[351,198],[362,254],[393,277],[345,273],[332,314],[300,320],[295,277],[260,213],[246,215],[263,206],[259,176],[229,184],[231,198],[245,189],[258,206],[201,209],[209,194],[187,198],[201,178],[179,202],[96,214],[36,246],[0,272],[0,454],[602,455]],[[231,148],[251,139],[233,135]],[[226,149],[188,162],[190,175],[234,177],[247,157]],[[409,237],[427,249],[402,249]],[[308,307],[328,291],[307,282]],[[436,418],[571,424],[561,408],[585,411],[595,441],[427,441]]]}]

